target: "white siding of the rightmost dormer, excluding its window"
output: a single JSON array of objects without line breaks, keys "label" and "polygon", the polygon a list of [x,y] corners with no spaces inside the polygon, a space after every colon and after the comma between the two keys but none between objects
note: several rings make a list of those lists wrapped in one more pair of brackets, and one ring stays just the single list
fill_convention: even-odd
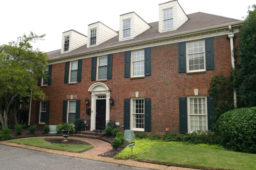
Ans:
[{"label": "white siding of the rightmost dormer, excluding its window", "polygon": [[[163,28],[163,10],[172,8],[173,12],[173,28],[164,30]],[[188,20],[188,17],[182,10],[180,4],[177,0],[173,0],[170,2],[166,2],[163,4],[159,4],[159,32],[166,32],[166,31],[173,31],[178,29],[183,23],[185,23]]]}]

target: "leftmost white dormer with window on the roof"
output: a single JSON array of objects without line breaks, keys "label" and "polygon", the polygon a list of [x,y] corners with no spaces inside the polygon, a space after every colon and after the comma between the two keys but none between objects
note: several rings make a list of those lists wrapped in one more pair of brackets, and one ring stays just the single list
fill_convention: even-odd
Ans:
[{"label": "leftmost white dormer with window on the roof", "polygon": [[61,54],[68,53],[87,43],[86,35],[73,29],[62,33]]}]

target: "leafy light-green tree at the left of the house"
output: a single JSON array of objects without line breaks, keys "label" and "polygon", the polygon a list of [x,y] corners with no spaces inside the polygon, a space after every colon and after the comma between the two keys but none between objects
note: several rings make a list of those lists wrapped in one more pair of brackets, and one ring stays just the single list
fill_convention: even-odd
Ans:
[{"label": "leafy light-green tree at the left of the house", "polygon": [[39,49],[33,49],[30,43],[43,40],[45,35],[30,32],[0,46],[0,121],[2,129],[8,128],[8,117],[13,117],[17,124],[17,112],[20,102],[44,96],[37,86],[37,80],[43,75],[48,56]]}]

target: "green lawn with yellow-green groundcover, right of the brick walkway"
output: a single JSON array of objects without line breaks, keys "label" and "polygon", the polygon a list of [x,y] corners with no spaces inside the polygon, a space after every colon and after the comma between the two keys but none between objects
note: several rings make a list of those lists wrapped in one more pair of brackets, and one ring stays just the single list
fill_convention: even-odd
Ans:
[{"label": "green lawn with yellow-green groundcover, right of the brick walkway", "polygon": [[150,139],[135,139],[133,149],[126,147],[116,158],[200,169],[256,169],[256,154],[232,152],[218,145],[186,145]]}]

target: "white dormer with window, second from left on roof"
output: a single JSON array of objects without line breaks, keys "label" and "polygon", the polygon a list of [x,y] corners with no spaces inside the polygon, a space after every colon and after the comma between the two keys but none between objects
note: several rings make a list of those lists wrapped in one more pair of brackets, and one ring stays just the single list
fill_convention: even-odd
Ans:
[{"label": "white dormer with window, second from left on roof", "polygon": [[88,25],[87,47],[100,45],[116,35],[118,35],[116,31],[101,22],[91,23]]}]

